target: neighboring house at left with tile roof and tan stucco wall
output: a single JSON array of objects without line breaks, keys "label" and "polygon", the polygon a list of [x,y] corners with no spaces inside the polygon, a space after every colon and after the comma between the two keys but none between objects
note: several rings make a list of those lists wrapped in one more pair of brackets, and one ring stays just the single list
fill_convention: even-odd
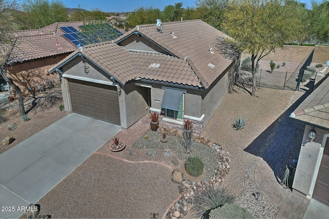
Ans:
[{"label": "neighboring house at left with tile roof and tan stucco wall", "polygon": [[[84,22],[55,23],[38,30],[15,31],[15,43],[9,57],[8,75],[19,86],[23,95],[46,88],[48,81],[59,83],[56,73],[48,69],[77,49],[63,34],[63,27],[73,27],[80,31]],[[13,90],[14,97],[16,94]]]}]

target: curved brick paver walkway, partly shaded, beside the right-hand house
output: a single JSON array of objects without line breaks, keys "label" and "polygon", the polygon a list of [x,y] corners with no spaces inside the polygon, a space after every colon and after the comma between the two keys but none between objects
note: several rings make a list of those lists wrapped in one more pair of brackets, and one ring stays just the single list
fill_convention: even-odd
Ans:
[{"label": "curved brick paver walkway, partly shaded, beside the right-hand house", "polygon": [[[299,98],[288,111],[293,112],[306,97]],[[309,200],[285,190],[277,181],[279,165],[293,147],[298,123],[288,117],[282,122],[277,138],[264,153],[254,171],[254,181],[262,194],[280,207],[277,218],[303,218]]]}]

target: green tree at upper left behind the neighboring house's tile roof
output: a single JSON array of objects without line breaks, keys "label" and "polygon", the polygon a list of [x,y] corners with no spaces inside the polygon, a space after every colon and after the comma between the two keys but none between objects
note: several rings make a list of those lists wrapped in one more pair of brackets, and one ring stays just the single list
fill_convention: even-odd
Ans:
[{"label": "green tree at upper left behind the neighboring house's tile roof", "polygon": [[17,19],[21,29],[38,29],[56,22],[68,21],[67,10],[60,0],[26,0]]}]

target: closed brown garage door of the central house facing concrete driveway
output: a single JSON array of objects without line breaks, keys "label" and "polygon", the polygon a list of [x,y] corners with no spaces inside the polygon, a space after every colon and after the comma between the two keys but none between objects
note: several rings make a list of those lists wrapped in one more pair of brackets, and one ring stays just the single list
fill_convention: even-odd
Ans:
[{"label": "closed brown garage door of the central house facing concrete driveway", "polygon": [[120,125],[116,87],[69,79],[72,111],[97,120]]}]

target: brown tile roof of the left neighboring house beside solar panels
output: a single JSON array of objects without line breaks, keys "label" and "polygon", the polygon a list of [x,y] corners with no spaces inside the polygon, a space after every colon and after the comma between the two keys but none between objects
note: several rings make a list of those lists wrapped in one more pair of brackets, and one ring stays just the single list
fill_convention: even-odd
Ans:
[{"label": "brown tile roof of the left neighboring house beside solar panels", "polygon": [[[60,27],[72,26],[79,30],[83,23],[61,22],[36,30],[12,32],[17,38],[10,55],[10,64],[74,52],[77,47],[62,36],[64,32]],[[122,29],[119,31],[125,32]]]}]

